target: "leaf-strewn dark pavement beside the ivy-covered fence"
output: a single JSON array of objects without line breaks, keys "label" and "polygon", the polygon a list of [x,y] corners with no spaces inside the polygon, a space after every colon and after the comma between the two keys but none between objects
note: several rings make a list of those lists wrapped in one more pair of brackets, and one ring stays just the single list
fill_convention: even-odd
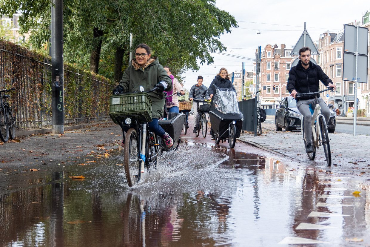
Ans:
[{"label": "leaf-strewn dark pavement beside the ivy-covered fence", "polygon": [[99,123],[62,135],[38,134],[0,142],[0,194],[51,183],[54,172],[64,172],[66,179],[83,175],[118,152],[121,141],[120,126]]}]

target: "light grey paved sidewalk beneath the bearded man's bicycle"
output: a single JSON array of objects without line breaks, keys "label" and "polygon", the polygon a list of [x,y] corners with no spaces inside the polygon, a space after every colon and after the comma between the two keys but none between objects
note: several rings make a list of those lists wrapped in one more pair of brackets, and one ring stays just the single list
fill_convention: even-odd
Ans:
[{"label": "light grey paved sidewalk beneath the bearded man's bicycle", "polygon": [[[332,153],[331,169],[339,173],[370,178],[370,137],[343,133],[329,133],[329,137]],[[262,123],[262,136],[255,137],[253,133],[245,132],[240,135],[239,140],[290,157],[299,163],[316,163],[320,167],[327,167],[322,147],[316,150],[314,161],[308,159],[300,131],[275,131],[275,124]]]}]

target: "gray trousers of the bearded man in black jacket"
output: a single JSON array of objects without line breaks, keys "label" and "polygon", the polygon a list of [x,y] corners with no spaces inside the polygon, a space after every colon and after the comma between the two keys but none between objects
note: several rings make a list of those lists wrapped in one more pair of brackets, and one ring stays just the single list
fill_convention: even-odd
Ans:
[{"label": "gray trousers of the bearded man in black jacket", "polygon": [[[314,110],[316,106],[315,99],[299,100],[297,102],[297,108],[303,116],[303,129],[305,130],[306,142],[312,143],[312,129],[311,129],[312,115],[309,104],[312,104],[312,110]],[[329,107],[327,107],[326,103],[321,98],[319,98],[319,104],[321,106],[321,113],[324,115],[327,124],[329,122],[330,117]]]}]

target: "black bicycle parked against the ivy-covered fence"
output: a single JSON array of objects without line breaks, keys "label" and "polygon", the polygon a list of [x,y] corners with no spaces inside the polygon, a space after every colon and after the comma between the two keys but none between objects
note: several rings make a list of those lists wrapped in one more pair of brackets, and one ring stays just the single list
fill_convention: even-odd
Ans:
[{"label": "black bicycle parked against the ivy-covered fence", "polygon": [[16,138],[16,119],[13,116],[13,111],[7,101],[10,95],[6,92],[14,91],[16,89],[7,89],[0,91],[0,139],[7,142],[10,139]]}]

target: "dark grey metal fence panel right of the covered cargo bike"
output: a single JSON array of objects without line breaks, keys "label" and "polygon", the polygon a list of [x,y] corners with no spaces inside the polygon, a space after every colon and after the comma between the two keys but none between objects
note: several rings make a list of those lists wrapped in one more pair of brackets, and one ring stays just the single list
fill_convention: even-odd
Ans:
[{"label": "dark grey metal fence panel right of the covered cargo bike", "polygon": [[257,99],[239,101],[238,106],[244,118],[242,129],[254,132],[257,136]]}]

